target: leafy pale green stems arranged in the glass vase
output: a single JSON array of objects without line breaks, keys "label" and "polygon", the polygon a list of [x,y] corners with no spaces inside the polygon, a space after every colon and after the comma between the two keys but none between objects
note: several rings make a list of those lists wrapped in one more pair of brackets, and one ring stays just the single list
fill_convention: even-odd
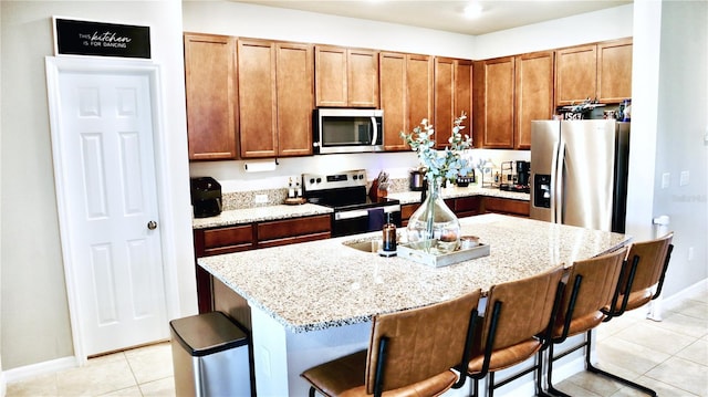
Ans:
[{"label": "leafy pale green stems arranged in the glass vase", "polygon": [[428,181],[449,180],[455,182],[458,176],[466,176],[471,171],[471,165],[460,153],[472,146],[469,135],[464,135],[462,122],[467,118],[465,112],[455,119],[452,135],[448,139],[449,146],[438,150],[435,148],[435,129],[427,118],[413,129],[413,133],[400,132],[400,137],[410,145],[410,149],[417,152],[420,165],[425,167],[425,175]]}]

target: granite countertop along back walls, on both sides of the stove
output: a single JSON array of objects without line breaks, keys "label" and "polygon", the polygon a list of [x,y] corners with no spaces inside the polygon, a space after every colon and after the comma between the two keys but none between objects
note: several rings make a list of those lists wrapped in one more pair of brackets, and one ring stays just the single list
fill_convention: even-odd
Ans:
[{"label": "granite countertop along back walls, on both sides of the stove", "polygon": [[[490,196],[514,200],[529,201],[529,194],[503,191],[499,189],[481,188],[472,185],[466,188],[450,187],[442,189],[442,198],[459,198],[468,196]],[[389,198],[400,200],[402,205],[420,202],[420,191],[402,191],[388,194]],[[251,222],[262,222],[268,220],[289,219],[316,215],[332,213],[330,207],[304,203],[299,206],[263,206],[244,209],[222,211],[216,217],[194,218],[192,229],[206,229],[231,224],[242,224]]]}]

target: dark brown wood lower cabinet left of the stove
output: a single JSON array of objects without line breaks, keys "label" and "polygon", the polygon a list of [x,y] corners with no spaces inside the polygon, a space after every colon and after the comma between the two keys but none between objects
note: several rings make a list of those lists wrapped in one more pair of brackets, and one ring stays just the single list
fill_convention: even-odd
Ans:
[{"label": "dark brown wood lower cabinet left of the stove", "polygon": [[[264,222],[244,223],[209,229],[195,229],[197,258],[329,239],[332,237],[332,216],[320,215]],[[211,274],[196,265],[199,313],[220,310],[214,307],[216,282]]]}]

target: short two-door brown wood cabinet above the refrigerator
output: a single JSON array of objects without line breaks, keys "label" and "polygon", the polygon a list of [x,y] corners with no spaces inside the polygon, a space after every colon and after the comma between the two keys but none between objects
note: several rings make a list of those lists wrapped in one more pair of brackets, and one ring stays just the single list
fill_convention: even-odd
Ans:
[{"label": "short two-door brown wood cabinet above the refrigerator", "polygon": [[587,98],[618,103],[632,97],[632,39],[561,49],[555,52],[555,104]]}]

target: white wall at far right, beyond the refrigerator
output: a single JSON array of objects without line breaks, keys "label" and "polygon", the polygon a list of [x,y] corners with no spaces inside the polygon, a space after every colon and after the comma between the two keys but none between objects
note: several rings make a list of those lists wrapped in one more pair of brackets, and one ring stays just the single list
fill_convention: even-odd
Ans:
[{"label": "white wall at far right, beyond the refrigerator", "polygon": [[[650,217],[669,216],[675,231],[665,284],[671,295],[708,276],[708,2],[665,1],[660,22]],[[684,186],[681,173],[689,176]],[[666,189],[663,174],[670,176]]]}]

